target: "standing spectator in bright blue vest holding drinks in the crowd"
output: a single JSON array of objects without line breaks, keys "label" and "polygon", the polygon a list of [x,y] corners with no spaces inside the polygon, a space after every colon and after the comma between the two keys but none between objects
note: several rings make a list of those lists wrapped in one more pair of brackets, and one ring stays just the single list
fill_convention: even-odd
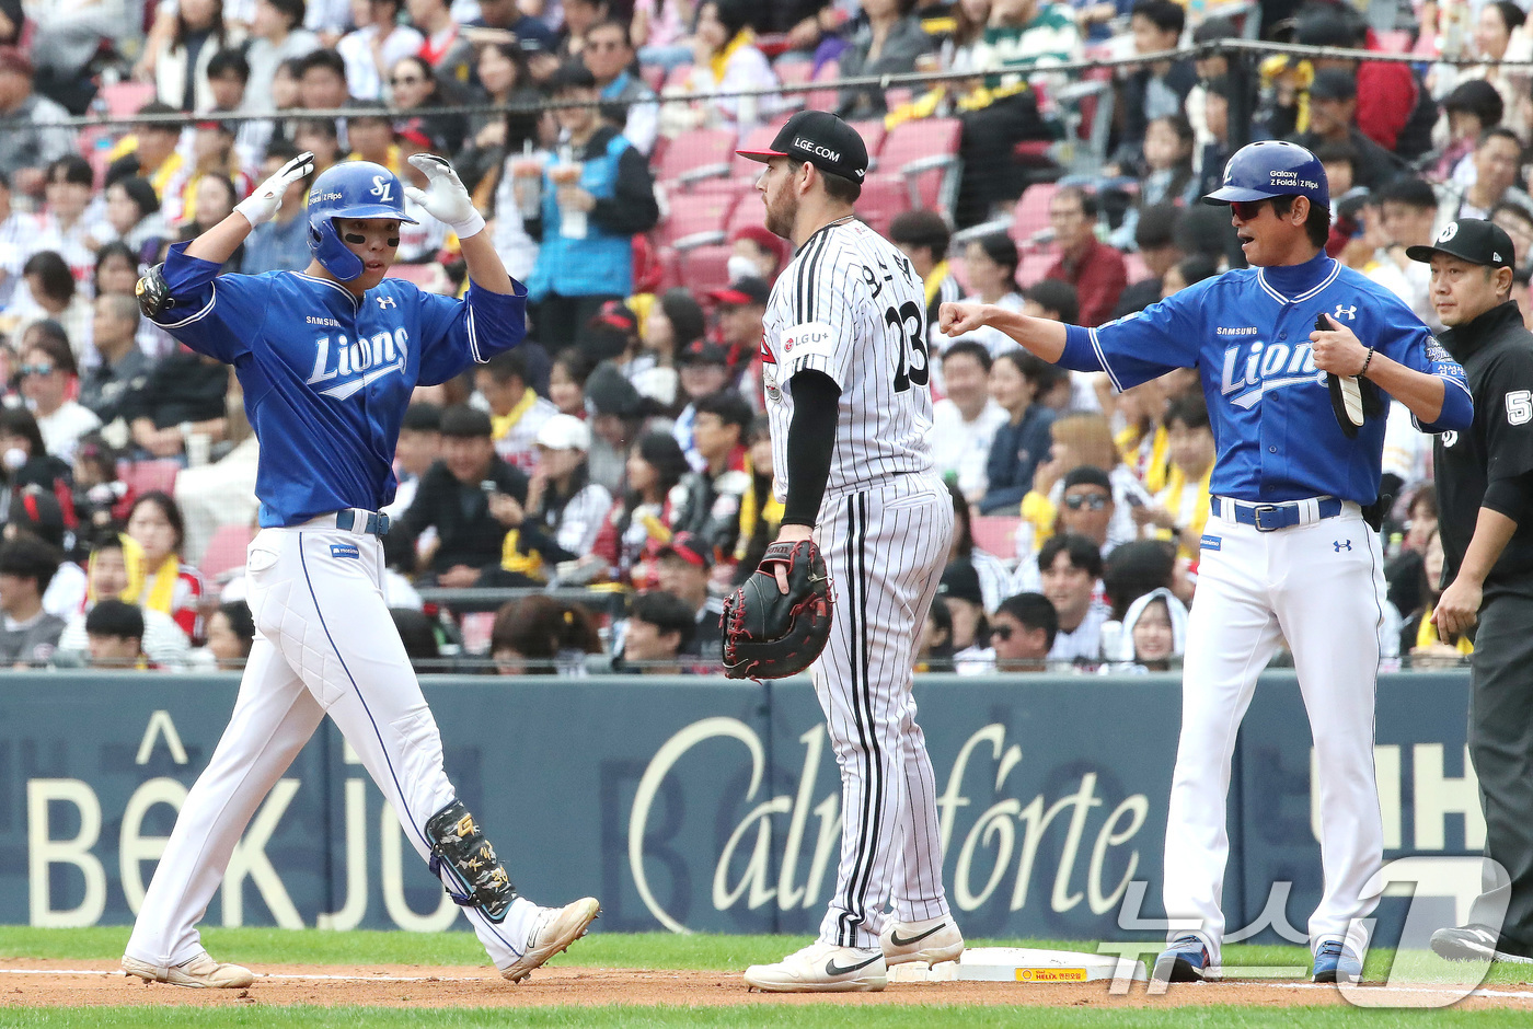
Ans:
[{"label": "standing spectator in bright blue vest holding drinks in the crowd", "polygon": [[544,170],[541,218],[527,225],[541,239],[527,281],[540,340],[550,353],[573,342],[606,301],[633,291],[635,233],[655,227],[659,207],[644,155],[598,113],[596,80],[569,64],[550,81],[569,161]]}]

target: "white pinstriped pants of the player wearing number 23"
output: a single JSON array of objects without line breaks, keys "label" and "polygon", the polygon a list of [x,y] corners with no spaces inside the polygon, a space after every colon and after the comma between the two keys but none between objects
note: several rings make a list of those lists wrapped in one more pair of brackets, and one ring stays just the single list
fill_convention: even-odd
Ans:
[{"label": "white pinstriped pants of the player wearing number 23", "polygon": [[898,475],[820,508],[816,543],[835,613],[809,672],[842,771],[842,862],[825,943],[878,946],[891,900],[900,922],[947,912],[937,781],[911,682],[952,532],[952,497],[935,475]]}]

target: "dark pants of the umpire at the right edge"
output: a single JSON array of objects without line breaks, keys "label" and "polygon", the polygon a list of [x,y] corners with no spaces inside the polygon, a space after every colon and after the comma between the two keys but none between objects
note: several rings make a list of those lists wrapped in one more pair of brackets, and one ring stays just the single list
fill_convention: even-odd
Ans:
[{"label": "dark pants of the umpire at the right edge", "polygon": [[1479,609],[1473,684],[1469,695],[1469,751],[1485,811],[1481,911],[1505,905],[1499,949],[1533,955],[1533,597],[1498,593]]}]

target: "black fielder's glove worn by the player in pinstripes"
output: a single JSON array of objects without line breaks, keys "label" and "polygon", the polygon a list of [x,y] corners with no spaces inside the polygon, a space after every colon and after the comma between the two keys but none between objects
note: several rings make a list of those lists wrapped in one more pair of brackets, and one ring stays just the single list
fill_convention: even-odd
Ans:
[{"label": "black fielder's glove worn by the player in pinstripes", "polygon": [[[777,589],[777,567],[788,592]],[[803,672],[831,636],[831,577],[811,540],[773,543],[756,574],[724,601],[724,673],[780,679]]]}]

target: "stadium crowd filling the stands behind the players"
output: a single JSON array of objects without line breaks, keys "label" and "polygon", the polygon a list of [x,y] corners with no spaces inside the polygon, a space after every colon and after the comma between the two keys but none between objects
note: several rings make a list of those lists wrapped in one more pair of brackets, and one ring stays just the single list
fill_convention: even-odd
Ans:
[{"label": "stadium crowd filling the stands behind the players", "polygon": [[[1237,37],[1355,55],[1188,49]],[[1387,51],[1415,60],[1369,60]],[[228,370],[144,321],[133,285],[311,150],[417,184],[406,158],[449,155],[530,291],[527,345],[405,419],[386,547],[412,658],[716,670],[721,600],[782,514],[757,351],[791,259],[730,150],[808,103],[888,143],[863,210],[931,304],[960,531],[918,667],[1173,667],[1214,460],[1196,373],[1114,394],[998,333],[949,340],[937,305],[1099,325],[1237,265],[1197,196],[1236,143],[1289,138],[1326,166],[1331,255],[1436,325],[1404,248],[1453,218],[1495,219],[1533,278],[1533,97],[1501,66],[1530,54],[1508,0],[1389,25],[1297,0],[0,0],[0,666],[242,662],[254,440]],[[839,84],[886,74],[947,77]],[[894,161],[897,133],[924,159]],[[460,290],[455,239],[412,213],[397,273]],[[299,270],[307,232],[290,192],[227,270]],[[1430,621],[1430,446],[1398,405],[1384,472],[1384,653],[1458,662],[1469,641]]]}]

